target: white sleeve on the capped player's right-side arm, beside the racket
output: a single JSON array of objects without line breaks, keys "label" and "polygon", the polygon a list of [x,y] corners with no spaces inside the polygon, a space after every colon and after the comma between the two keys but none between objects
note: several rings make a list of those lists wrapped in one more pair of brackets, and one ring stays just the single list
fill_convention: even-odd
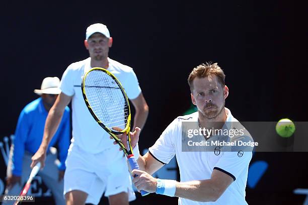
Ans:
[{"label": "white sleeve on the capped player's right-side arm, beside the racket", "polygon": [[139,86],[139,82],[137,76],[133,70],[127,73],[125,85],[125,92],[129,99],[136,98],[141,93],[141,88]]}]

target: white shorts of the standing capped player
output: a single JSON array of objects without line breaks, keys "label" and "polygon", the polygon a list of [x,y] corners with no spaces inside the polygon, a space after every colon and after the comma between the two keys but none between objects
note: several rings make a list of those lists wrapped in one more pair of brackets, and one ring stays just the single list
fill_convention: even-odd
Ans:
[{"label": "white shorts of the standing capped player", "polygon": [[134,200],[126,158],[119,146],[91,154],[71,144],[65,161],[64,194],[72,190],[88,193],[86,203],[98,204],[105,196],[128,192]]}]

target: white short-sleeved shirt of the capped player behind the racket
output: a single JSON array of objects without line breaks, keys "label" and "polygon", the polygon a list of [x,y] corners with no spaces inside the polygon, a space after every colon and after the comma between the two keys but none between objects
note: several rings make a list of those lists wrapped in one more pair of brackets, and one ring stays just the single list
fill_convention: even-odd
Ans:
[{"label": "white short-sleeved shirt of the capped player behind the racket", "polygon": [[[91,58],[70,64],[64,71],[60,89],[72,96],[72,140],[73,144],[89,153],[99,153],[114,146],[107,132],[91,116],[83,95],[81,83],[84,74],[91,69]],[[129,99],[136,98],[141,89],[133,69],[108,58],[108,70],[121,82]]]}]

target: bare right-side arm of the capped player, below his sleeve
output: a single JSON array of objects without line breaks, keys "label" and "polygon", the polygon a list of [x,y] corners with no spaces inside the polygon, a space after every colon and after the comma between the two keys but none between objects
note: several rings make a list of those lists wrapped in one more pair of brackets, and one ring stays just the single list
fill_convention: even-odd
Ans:
[{"label": "bare right-side arm of the capped player, below his sleeve", "polygon": [[135,108],[134,125],[132,130],[135,130],[136,127],[139,127],[142,130],[148,115],[148,106],[142,92],[136,98],[131,99],[131,102]]}]

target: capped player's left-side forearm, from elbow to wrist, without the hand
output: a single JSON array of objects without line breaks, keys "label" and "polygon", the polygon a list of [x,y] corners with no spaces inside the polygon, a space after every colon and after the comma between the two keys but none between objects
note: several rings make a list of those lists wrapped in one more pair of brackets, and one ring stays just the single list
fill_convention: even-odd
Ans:
[{"label": "capped player's left-side forearm, from elbow to wrist, without the hand", "polygon": [[57,131],[59,124],[61,122],[63,116],[63,112],[59,112],[54,107],[52,107],[48,113],[45,128],[44,128],[44,136],[41,143],[41,148],[47,151],[49,142]]}]

